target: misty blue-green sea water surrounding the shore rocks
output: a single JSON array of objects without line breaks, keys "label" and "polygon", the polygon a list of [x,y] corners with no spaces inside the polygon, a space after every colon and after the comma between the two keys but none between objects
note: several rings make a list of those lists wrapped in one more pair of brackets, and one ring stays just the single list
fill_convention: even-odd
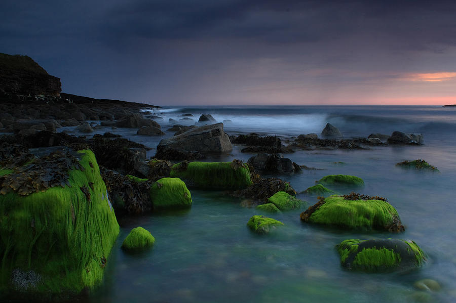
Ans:
[{"label": "misty blue-green sea water surrounding the shore rocks", "polygon": [[[146,109],[145,109],[146,110]],[[304,210],[271,217],[285,226],[258,236],[246,226],[254,214],[241,199],[221,191],[192,190],[187,211],[119,219],[121,232],[106,266],[104,283],[90,295],[92,302],[454,302],[456,301],[456,108],[413,106],[271,106],[170,107],[151,110],[163,117],[162,129],[184,113],[226,119],[229,134],[258,133],[287,139],[320,134],[327,122],[344,137],[367,137],[393,131],[422,133],[422,146],[373,147],[370,150],[297,150],[285,154],[298,164],[319,168],[276,176],[297,192],[326,175],[348,174],[364,179],[360,193],[383,196],[396,207],[406,231],[400,234],[345,231],[301,223]],[[182,122],[178,122],[184,124]],[[194,124],[195,121],[187,122]],[[74,127],[65,127],[72,132]],[[62,129],[63,130],[63,129]],[[102,127],[96,133],[118,133],[142,143],[155,154],[161,138],[135,135],[136,129]],[[234,146],[210,161],[247,161],[253,154]],[[440,172],[395,166],[425,159]],[[338,163],[343,162],[343,163]],[[339,191],[346,193],[344,191]],[[298,194],[307,206],[316,198]],[[267,214],[269,215],[269,214]],[[137,226],[156,238],[152,249],[137,254],[121,250]],[[340,266],[335,245],[345,239],[400,238],[415,241],[427,263],[409,272],[366,274]],[[433,279],[437,292],[420,291],[414,282]]]}]

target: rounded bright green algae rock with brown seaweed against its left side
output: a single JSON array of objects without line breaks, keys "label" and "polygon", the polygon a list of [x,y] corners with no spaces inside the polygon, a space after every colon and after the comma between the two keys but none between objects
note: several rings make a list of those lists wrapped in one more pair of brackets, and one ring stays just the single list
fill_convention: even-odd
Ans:
[{"label": "rounded bright green algae rock with brown seaweed against its left side", "polygon": [[150,187],[154,209],[192,206],[192,195],[179,178],[162,178]]}]

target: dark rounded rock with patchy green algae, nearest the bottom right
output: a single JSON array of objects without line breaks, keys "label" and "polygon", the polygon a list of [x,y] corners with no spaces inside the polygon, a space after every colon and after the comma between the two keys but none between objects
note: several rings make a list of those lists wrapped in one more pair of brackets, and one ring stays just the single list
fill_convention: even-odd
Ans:
[{"label": "dark rounded rock with patchy green algae, nearest the bottom right", "polygon": [[426,255],[413,241],[402,239],[349,239],[337,246],[340,263],[350,270],[382,272],[421,266]]}]

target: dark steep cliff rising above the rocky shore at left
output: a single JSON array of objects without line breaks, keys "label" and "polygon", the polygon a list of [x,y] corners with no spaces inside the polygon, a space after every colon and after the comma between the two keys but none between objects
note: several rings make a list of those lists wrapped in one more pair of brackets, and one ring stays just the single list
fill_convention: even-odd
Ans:
[{"label": "dark steep cliff rising above the rocky shore at left", "polygon": [[28,56],[0,53],[0,93],[58,96],[60,79]]}]

